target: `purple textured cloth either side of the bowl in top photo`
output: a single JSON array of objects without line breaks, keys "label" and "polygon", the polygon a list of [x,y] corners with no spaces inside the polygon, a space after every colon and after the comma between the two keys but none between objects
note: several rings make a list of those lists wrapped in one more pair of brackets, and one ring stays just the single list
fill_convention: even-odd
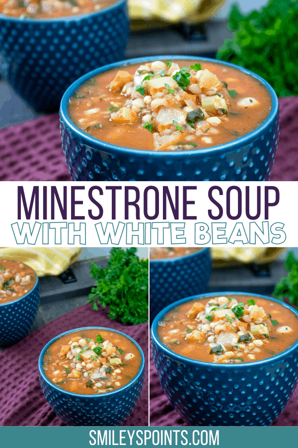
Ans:
[{"label": "purple textured cloth either side of the bowl in top photo", "polygon": [[[281,127],[272,181],[298,180],[298,97],[281,98]],[[59,115],[0,130],[0,181],[65,181]]]}]

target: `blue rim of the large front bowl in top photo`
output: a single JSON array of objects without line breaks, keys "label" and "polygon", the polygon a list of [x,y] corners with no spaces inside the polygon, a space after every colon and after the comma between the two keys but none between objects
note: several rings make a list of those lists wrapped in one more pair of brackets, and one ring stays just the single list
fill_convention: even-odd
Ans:
[{"label": "blue rim of the large front bowl in top photo", "polygon": [[[113,145],[111,143],[107,143],[103,140],[98,140],[97,138],[92,137],[91,135],[83,132],[81,129],[79,129],[74,122],[71,120],[71,117],[68,112],[68,106],[69,106],[69,99],[73,96],[74,92],[77,91],[79,87],[81,87],[82,84],[84,84],[86,81],[88,81],[90,78],[99,75],[103,72],[106,72],[108,70],[111,70],[115,67],[124,67],[126,65],[136,64],[136,63],[142,63],[142,62],[149,62],[149,61],[155,61],[155,60],[177,60],[177,59],[185,59],[185,60],[198,60],[202,62],[211,62],[213,64],[221,64],[224,66],[232,67],[234,69],[239,70],[242,73],[245,73],[246,75],[252,76],[253,78],[257,79],[266,89],[269,91],[272,101],[272,109],[267,116],[267,118],[261,123],[256,129],[252,130],[248,134],[239,137],[235,140],[232,140],[230,142],[224,143],[222,145],[212,146],[209,148],[201,148],[201,149],[192,149],[187,151],[150,151],[145,149],[133,149],[133,148],[127,148],[124,146],[118,146]],[[233,149],[241,147],[242,145],[248,145],[253,140],[257,138],[258,135],[261,135],[265,129],[268,126],[273,125],[273,121],[278,113],[279,110],[279,104],[278,104],[278,98],[276,96],[275,91],[270,86],[270,84],[265,81],[263,78],[261,78],[256,73],[251,72],[250,70],[244,69],[243,67],[240,67],[235,64],[231,64],[230,62],[220,61],[219,59],[212,59],[212,58],[203,58],[203,57],[196,57],[196,56],[177,56],[177,55],[165,55],[165,56],[149,56],[149,57],[142,57],[142,58],[134,58],[134,59],[126,59],[124,61],[118,61],[114,62],[112,64],[104,65],[102,67],[99,67],[97,69],[92,70],[91,72],[86,73],[85,75],[78,78],[76,81],[74,81],[73,84],[71,84],[68,89],[65,91],[61,104],[60,104],[60,116],[61,118],[67,123],[68,127],[80,137],[80,141],[82,144],[86,144],[88,146],[91,146],[92,148],[96,148],[96,146],[100,145],[101,148],[109,149],[110,151],[113,150],[114,153],[123,153],[128,151],[129,155],[142,155],[142,156],[151,156],[151,157],[164,157],[165,155],[169,155],[169,157],[175,157],[175,158],[185,158],[188,155],[204,155],[204,154],[221,154],[225,153],[227,150],[231,152]]]}]

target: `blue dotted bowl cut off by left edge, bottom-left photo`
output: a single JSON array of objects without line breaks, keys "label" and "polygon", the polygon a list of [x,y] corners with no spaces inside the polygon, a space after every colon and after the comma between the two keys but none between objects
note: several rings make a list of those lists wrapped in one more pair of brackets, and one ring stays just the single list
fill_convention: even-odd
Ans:
[{"label": "blue dotted bowl cut off by left edge, bottom-left photo", "polygon": [[39,281],[19,299],[0,304],[0,347],[7,347],[27,335],[39,307]]}]

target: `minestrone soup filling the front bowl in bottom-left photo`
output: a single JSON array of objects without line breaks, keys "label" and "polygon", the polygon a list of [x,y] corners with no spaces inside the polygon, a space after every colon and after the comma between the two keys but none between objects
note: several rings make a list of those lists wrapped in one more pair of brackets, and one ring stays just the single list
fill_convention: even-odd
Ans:
[{"label": "minestrone soup filling the front bowl in bottom-left photo", "polygon": [[61,389],[83,395],[112,392],[139,372],[141,354],[127,337],[107,330],[84,330],[50,345],[43,369]]}]

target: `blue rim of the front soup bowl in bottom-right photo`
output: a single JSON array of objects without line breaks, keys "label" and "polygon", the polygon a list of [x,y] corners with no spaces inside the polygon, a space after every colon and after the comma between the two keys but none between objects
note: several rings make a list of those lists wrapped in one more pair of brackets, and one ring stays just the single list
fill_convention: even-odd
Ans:
[{"label": "blue rim of the front soup bowl in bottom-right photo", "polygon": [[[279,303],[281,305],[283,305],[285,308],[288,308],[288,310],[292,311],[296,317],[298,318],[298,312],[290,307],[289,305],[285,304],[284,302],[281,302],[280,300],[277,299],[273,299],[272,297],[269,296],[263,296],[262,294],[253,294],[253,293],[247,293],[247,292],[235,292],[235,291],[221,291],[221,292],[215,292],[215,293],[208,293],[208,294],[198,294],[195,296],[190,296],[190,297],[186,297],[184,299],[178,300],[177,302],[173,302],[170,305],[168,305],[167,307],[165,307],[163,310],[161,310],[157,316],[154,318],[152,325],[151,325],[151,337],[154,341],[154,343],[158,346],[158,348],[160,350],[162,350],[165,355],[168,355],[171,358],[174,358],[175,361],[178,362],[187,362],[188,364],[192,364],[194,367],[198,367],[198,366],[204,366],[204,367],[209,367],[212,369],[225,369],[225,368],[229,368],[229,369],[248,369],[251,368],[255,365],[262,366],[271,362],[276,362],[279,361],[281,358],[284,358],[285,356],[289,355],[291,352],[293,351],[297,351],[298,349],[298,340],[289,348],[287,348],[287,350],[282,351],[281,353],[271,356],[270,358],[266,358],[266,359],[260,359],[258,361],[251,361],[251,362],[244,362],[243,364],[221,364],[221,363],[213,363],[213,362],[205,362],[205,361],[199,361],[196,359],[191,359],[191,358],[187,358],[186,356],[183,355],[179,355],[177,353],[175,353],[174,351],[169,350],[167,347],[165,347],[163,345],[162,342],[160,342],[160,340],[158,339],[157,336],[157,326],[158,326],[158,322],[164,317],[164,315],[166,313],[168,313],[170,310],[172,310],[173,308],[175,308],[178,305],[181,305],[182,303],[185,302],[189,302],[191,300],[194,299],[203,299],[206,297],[220,297],[220,296],[251,296],[251,297],[261,297],[262,299],[267,299],[267,300],[271,300],[272,302],[276,302]],[[298,354],[298,353],[297,353]]]}]

